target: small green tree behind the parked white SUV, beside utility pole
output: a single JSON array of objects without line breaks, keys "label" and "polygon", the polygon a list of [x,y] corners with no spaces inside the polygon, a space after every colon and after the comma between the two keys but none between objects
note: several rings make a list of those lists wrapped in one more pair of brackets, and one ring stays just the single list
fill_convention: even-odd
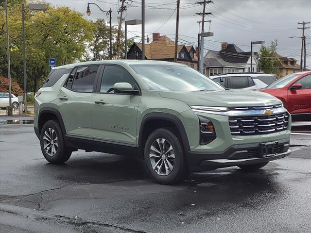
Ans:
[{"label": "small green tree behind the parked white SUV, beside utility pole", "polygon": [[277,58],[276,53],[277,40],[271,41],[269,47],[262,45],[259,50],[259,68],[266,74],[279,75],[279,67],[282,61]]}]

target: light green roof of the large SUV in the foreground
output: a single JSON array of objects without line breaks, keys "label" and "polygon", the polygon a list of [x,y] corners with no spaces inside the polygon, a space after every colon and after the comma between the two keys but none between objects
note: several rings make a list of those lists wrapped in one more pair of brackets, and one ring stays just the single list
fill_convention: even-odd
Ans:
[{"label": "light green roof of the large SUV in the foreground", "polygon": [[101,65],[101,64],[115,64],[115,65],[175,65],[175,66],[184,66],[183,64],[180,63],[173,63],[173,62],[166,62],[166,61],[153,61],[153,60],[102,60],[102,61],[89,61],[89,62],[79,62],[79,63],[73,63],[73,64],[68,64],[60,67],[54,67],[53,69],[61,69],[61,68],[66,68],[66,69],[72,69],[73,67],[76,66],[90,66],[90,65]]}]

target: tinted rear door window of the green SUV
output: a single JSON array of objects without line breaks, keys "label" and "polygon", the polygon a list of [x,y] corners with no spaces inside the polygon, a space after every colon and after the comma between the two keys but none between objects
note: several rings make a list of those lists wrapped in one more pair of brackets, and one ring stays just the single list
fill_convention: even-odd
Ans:
[{"label": "tinted rear door window of the green SUV", "polygon": [[66,83],[66,87],[73,91],[92,92],[99,66],[77,67]]}]

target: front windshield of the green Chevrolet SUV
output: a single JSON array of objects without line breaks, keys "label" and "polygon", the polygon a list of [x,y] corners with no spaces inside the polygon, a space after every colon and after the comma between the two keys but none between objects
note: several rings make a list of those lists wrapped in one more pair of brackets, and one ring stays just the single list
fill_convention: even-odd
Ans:
[{"label": "front windshield of the green Chevrolet SUV", "polygon": [[220,91],[221,85],[186,66],[131,65],[150,90],[157,91]]}]

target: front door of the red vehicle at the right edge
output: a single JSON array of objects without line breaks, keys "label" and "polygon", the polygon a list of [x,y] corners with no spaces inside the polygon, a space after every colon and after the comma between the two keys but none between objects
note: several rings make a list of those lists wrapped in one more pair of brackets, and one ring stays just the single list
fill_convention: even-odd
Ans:
[{"label": "front door of the red vehicle at the right edge", "polygon": [[302,77],[295,83],[301,83],[302,88],[288,89],[288,109],[291,114],[311,113],[311,75]]}]

